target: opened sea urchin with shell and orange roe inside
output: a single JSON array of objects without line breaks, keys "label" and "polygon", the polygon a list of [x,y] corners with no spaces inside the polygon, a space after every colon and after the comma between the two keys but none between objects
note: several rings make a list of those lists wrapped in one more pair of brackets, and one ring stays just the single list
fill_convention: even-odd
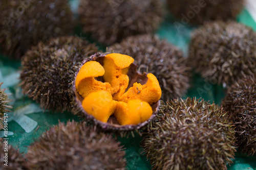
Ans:
[{"label": "opened sea urchin with shell and orange roe inside", "polygon": [[73,82],[73,113],[104,131],[138,130],[158,111],[161,88],[153,74],[139,74],[134,59],[96,53],[79,66]]}]

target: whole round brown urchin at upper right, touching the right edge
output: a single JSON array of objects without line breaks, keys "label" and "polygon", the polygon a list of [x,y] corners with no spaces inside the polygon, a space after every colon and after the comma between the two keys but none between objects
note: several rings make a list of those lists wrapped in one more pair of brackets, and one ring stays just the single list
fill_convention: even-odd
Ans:
[{"label": "whole round brown urchin at upper right, touching the right edge", "polygon": [[193,32],[189,60],[202,77],[231,85],[256,73],[256,33],[241,23],[210,22]]}]

